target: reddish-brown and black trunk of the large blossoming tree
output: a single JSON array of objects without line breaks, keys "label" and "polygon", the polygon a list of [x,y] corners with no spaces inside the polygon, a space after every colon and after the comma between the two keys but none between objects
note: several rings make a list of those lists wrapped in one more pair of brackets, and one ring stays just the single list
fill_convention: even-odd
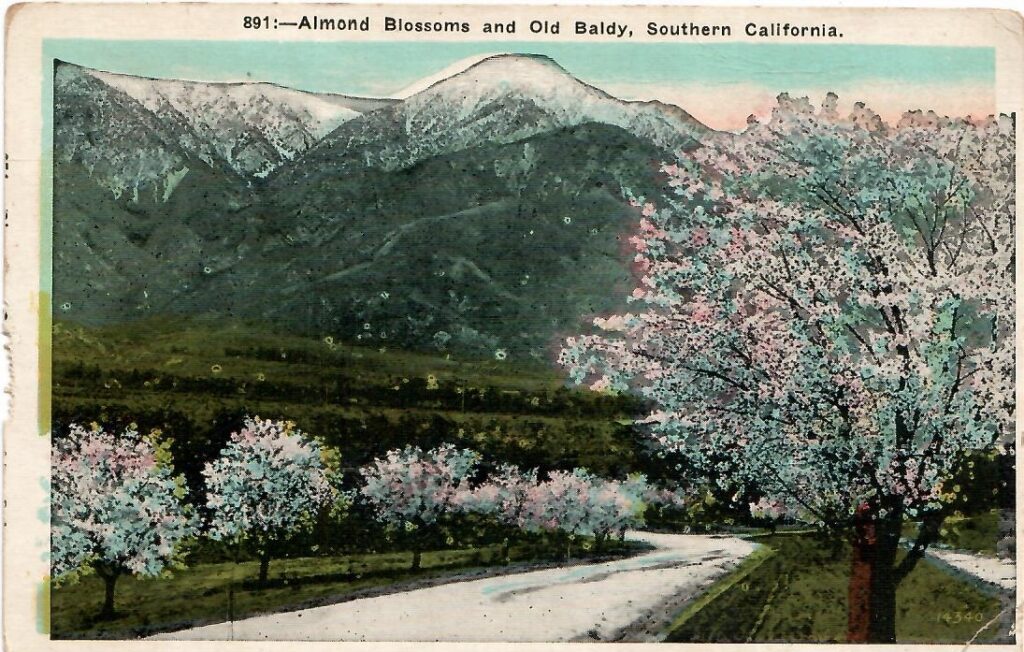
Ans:
[{"label": "reddish-brown and black trunk of the large blossoming tree", "polygon": [[854,524],[847,641],[896,642],[896,573],[900,520],[859,515]]}]

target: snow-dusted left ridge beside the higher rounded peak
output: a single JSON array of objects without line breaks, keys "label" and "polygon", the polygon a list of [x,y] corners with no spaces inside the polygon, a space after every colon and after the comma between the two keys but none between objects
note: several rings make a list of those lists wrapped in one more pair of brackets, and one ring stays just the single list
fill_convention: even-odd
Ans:
[{"label": "snow-dusted left ridge beside the higher rounded peak", "polygon": [[197,165],[262,177],[339,125],[395,101],[267,83],[150,79],[58,62],[54,149],[57,159],[84,163],[115,197],[152,186],[166,201],[165,191]]}]

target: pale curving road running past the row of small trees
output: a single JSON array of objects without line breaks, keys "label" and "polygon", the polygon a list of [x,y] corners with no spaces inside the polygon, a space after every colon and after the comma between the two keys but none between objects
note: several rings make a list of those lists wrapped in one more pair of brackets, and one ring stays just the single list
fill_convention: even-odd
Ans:
[{"label": "pale curving road running past the row of small trees", "polygon": [[616,640],[752,553],[731,536],[630,532],[655,550],[617,561],[458,581],[162,634],[164,640]]}]

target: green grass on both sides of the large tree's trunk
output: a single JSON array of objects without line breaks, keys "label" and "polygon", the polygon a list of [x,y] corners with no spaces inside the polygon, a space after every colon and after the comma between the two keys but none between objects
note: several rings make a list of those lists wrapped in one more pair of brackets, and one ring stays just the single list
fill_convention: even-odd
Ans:
[{"label": "green grass on both sides of the large tree's trunk", "polygon": [[[843,642],[847,626],[848,546],[833,550],[810,535],[758,538],[773,552],[728,576],[699,609],[677,618],[670,642]],[[731,581],[730,581],[731,579]],[[999,599],[922,561],[897,590],[900,643],[965,643],[1002,608]],[[991,642],[994,627],[977,642]]]}]

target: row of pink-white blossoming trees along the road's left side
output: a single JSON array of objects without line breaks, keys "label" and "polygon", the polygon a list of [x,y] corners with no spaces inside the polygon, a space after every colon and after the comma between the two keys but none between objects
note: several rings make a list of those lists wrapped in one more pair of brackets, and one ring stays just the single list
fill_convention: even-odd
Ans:
[{"label": "row of pink-white blossoming trees along the road's left side", "polygon": [[182,545],[200,535],[248,545],[263,584],[278,544],[308,530],[325,512],[343,518],[356,499],[389,528],[414,533],[413,570],[420,568],[420,534],[455,515],[505,526],[507,562],[516,530],[556,533],[568,557],[579,537],[600,547],[642,524],[647,505],[680,503],[642,476],[608,480],[582,469],[552,471],[539,481],[537,470],[502,465],[481,479],[480,455],[453,445],[391,450],[360,470],[357,488],[346,489],[334,449],[291,423],[250,419],[206,465],[203,519],[184,501],[187,487],[174,474],[169,447],[159,432],[116,435],[98,425],[72,426],[54,444],[53,576],[58,583],[91,572],[101,577],[101,617],[114,615],[120,575],[166,574],[182,565]]}]

